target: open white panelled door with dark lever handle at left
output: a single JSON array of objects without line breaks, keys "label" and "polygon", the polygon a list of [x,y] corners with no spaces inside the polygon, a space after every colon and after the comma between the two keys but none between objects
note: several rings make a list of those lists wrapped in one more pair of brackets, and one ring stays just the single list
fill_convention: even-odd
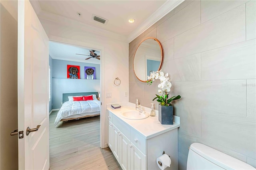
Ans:
[{"label": "open white panelled door with dark lever handle at left", "polygon": [[[24,131],[18,139],[19,169],[49,169],[48,55],[48,37],[36,13],[28,0],[19,0],[18,131]],[[26,135],[27,127],[37,125]]]}]

